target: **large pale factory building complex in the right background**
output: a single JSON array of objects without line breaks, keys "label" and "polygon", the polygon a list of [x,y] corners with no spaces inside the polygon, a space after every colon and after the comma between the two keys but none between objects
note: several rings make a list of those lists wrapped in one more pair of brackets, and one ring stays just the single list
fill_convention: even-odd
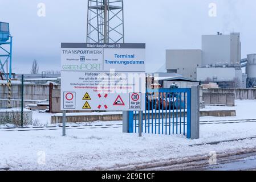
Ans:
[{"label": "large pale factory building complex in the right background", "polygon": [[[247,75],[242,73],[240,61],[239,33],[202,35],[202,49],[166,50],[168,73],[178,73],[201,82],[218,82],[221,87],[246,88]],[[252,67],[249,69],[256,72]]]}]

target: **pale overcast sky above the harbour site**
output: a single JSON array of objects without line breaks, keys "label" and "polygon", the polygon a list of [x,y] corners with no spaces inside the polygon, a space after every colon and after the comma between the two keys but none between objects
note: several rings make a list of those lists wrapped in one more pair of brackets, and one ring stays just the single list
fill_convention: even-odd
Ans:
[{"label": "pale overcast sky above the harbour site", "polygon": [[[46,5],[39,17],[38,3]],[[209,16],[216,3],[217,16]],[[165,49],[201,49],[201,35],[241,32],[242,57],[256,53],[256,1],[124,0],[125,42],[147,44],[147,72],[165,64]],[[0,0],[0,22],[14,36],[13,68],[60,69],[60,43],[86,42],[87,0]]]}]

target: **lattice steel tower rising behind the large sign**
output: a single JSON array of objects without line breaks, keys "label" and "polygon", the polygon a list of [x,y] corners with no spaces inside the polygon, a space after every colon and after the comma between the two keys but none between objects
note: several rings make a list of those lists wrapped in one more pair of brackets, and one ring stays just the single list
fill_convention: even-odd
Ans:
[{"label": "lattice steel tower rising behind the large sign", "polygon": [[123,0],[88,0],[87,43],[124,43]]}]

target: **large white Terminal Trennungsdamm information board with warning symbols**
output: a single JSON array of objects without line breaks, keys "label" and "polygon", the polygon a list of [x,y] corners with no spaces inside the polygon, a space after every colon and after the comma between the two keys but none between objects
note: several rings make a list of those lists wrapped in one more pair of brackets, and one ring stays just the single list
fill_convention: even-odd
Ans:
[{"label": "large white Terminal Trennungsdamm information board with warning symbols", "polygon": [[145,44],[62,43],[62,110],[145,110]]}]

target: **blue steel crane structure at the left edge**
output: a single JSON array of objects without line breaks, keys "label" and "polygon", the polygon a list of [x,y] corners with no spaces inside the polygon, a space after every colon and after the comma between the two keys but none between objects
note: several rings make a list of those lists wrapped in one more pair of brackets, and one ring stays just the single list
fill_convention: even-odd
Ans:
[{"label": "blue steel crane structure at the left edge", "polygon": [[11,79],[13,37],[10,35],[9,23],[0,22],[0,79]]}]

